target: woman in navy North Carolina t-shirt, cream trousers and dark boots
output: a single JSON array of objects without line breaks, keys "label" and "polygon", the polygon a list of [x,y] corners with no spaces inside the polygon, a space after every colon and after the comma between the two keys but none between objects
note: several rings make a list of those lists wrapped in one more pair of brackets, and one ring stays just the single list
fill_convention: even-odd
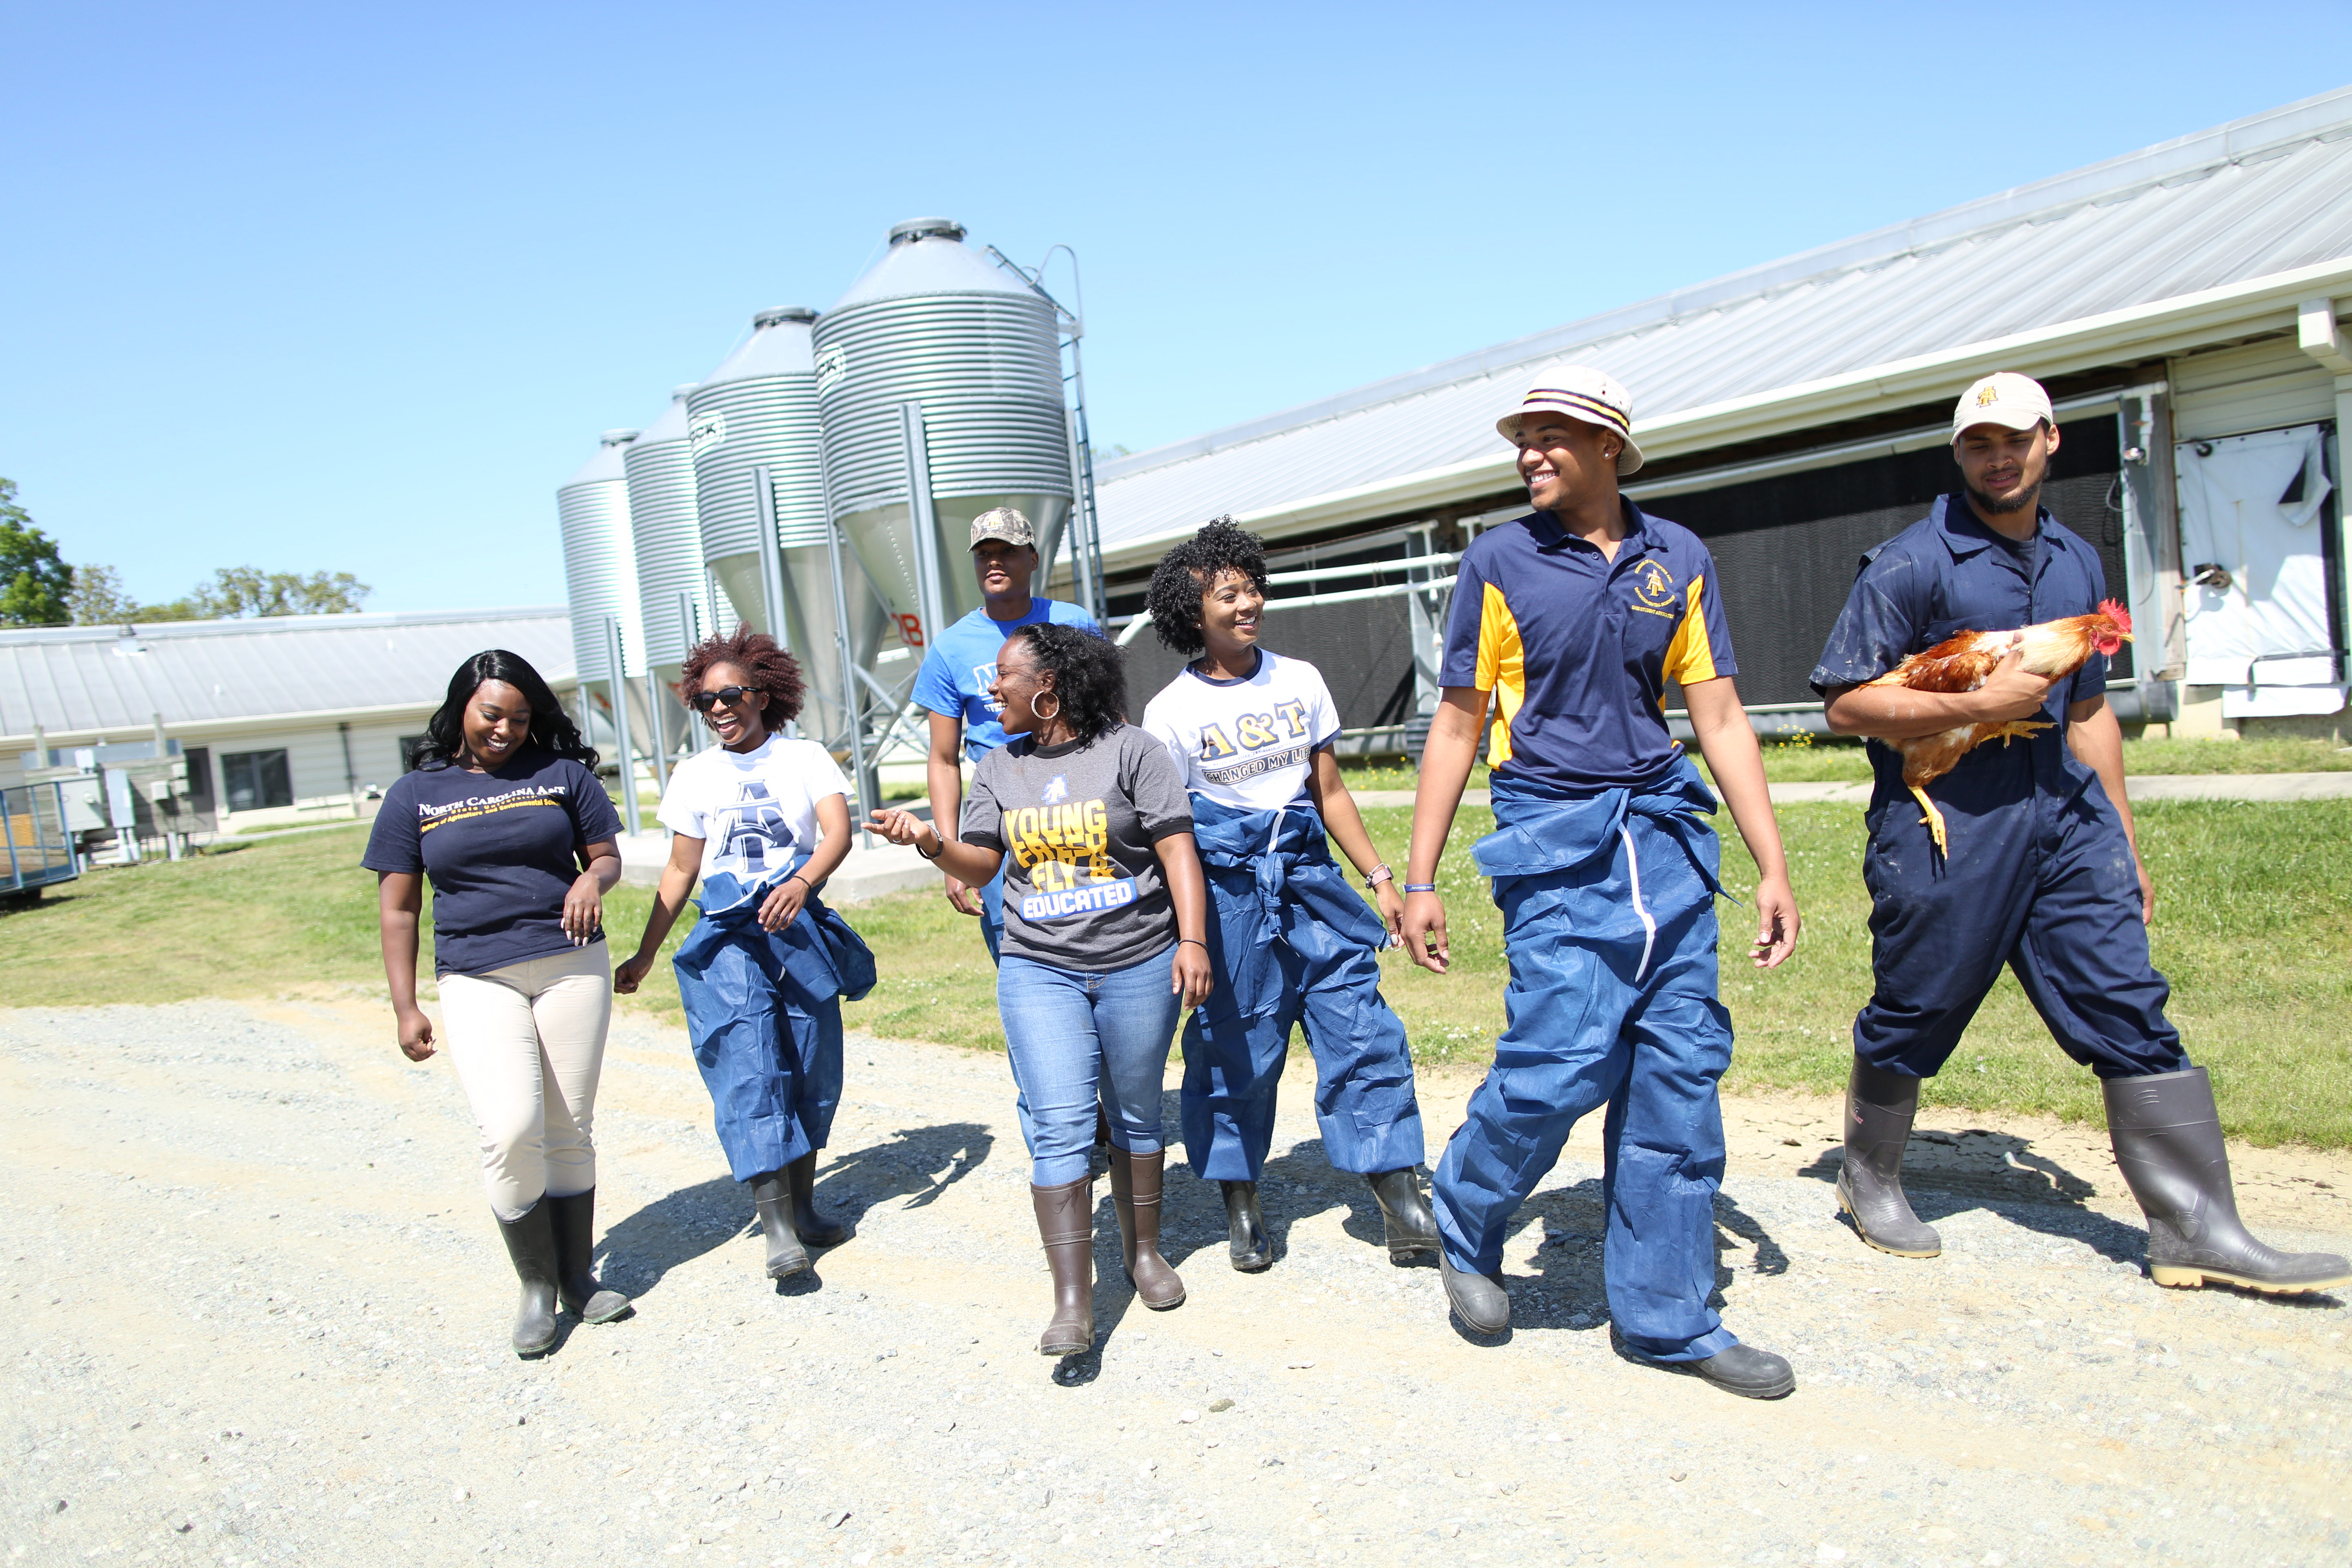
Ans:
[{"label": "woman in navy North Carolina t-shirt, cream trousers and dark boots", "polygon": [[433,882],[433,973],[449,1056],[482,1128],[482,1180],[522,1279],[515,1354],[581,1321],[628,1316],[597,1284],[595,1119],[612,959],[604,893],[621,830],[595,752],[522,656],[475,654],[426,724],[416,771],[383,792],[362,865],[376,872],[400,1051],[433,1056],[416,1006],[416,914]]}]

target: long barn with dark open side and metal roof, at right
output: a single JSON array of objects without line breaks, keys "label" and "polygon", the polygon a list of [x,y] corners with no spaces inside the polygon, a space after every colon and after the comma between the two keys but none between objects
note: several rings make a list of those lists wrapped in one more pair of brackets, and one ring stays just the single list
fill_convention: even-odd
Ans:
[{"label": "long barn with dark open side and metal roof, at right", "polygon": [[1181,665],[1141,635],[1152,567],[1232,512],[1343,745],[1406,745],[1456,552],[1526,512],[1494,421],[1559,362],[1632,390],[1625,494],[1712,550],[1764,729],[1823,726],[1860,555],[1957,484],[1952,400],[2009,369],[2065,428],[2044,501],[2140,628],[2117,715],[2352,741],[2352,87],[1103,463],[1129,691]]}]

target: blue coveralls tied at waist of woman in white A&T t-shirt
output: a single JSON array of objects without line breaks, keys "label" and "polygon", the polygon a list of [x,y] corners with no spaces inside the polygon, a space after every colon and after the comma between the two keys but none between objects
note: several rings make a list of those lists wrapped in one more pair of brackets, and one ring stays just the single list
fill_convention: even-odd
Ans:
[{"label": "blue coveralls tied at waist of woman in white A&T t-shirt", "polygon": [[1183,1032],[1185,1159],[1254,1182],[1275,1138],[1291,1025],[1315,1056],[1315,1121],[1336,1171],[1418,1166],[1421,1105],[1404,1023],[1381,999],[1388,926],[1331,860],[1308,799],[1242,811],[1192,797],[1209,884],[1214,990]]}]

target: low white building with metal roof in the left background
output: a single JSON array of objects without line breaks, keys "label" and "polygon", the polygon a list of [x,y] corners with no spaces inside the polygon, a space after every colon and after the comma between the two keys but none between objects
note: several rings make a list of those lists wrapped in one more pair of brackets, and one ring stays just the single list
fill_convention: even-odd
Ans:
[{"label": "low white building with metal roof in the left background", "polygon": [[[54,764],[82,748],[153,755],[160,726],[221,832],[372,816],[402,743],[482,649],[532,661],[579,715],[562,607],[5,630],[0,783],[42,750]],[[590,741],[609,748],[602,722]]]}]

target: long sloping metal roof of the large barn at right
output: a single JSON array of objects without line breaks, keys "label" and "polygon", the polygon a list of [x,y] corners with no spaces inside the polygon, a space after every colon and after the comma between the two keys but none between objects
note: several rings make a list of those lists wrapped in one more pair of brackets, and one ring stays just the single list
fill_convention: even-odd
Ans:
[{"label": "long sloping metal roof of the large barn at right", "polygon": [[1957,395],[1978,369],[2161,355],[2185,346],[2166,324],[2291,327],[2305,292],[2343,289],[2352,87],[1105,463],[1103,550],[1218,512],[1279,534],[1508,487],[1494,421],[1564,360],[1632,388],[1656,458]]}]

